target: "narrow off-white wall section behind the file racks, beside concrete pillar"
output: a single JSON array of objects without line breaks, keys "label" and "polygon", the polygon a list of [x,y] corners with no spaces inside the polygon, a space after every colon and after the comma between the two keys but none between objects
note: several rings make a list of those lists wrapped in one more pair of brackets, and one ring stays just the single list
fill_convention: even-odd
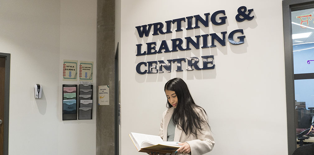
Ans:
[{"label": "narrow off-white wall section behind the file racks, beside concrete pillar", "polygon": [[[97,0],[62,0],[60,17],[60,62],[63,59],[94,61],[93,70],[93,119],[62,121],[62,95],[59,95],[58,148],[60,155],[96,154],[96,7]],[[59,71],[59,77],[62,72]],[[59,94],[62,84],[78,82],[62,81],[59,78]],[[70,139],[70,142],[68,141]]]}]

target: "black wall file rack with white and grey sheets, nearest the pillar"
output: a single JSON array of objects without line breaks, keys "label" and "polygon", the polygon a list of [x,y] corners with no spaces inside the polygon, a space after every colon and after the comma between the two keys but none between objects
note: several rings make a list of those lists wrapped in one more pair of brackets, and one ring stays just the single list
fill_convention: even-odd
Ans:
[{"label": "black wall file rack with white and grey sheets, nearest the pillar", "polygon": [[79,85],[78,103],[78,119],[92,119],[93,85]]}]

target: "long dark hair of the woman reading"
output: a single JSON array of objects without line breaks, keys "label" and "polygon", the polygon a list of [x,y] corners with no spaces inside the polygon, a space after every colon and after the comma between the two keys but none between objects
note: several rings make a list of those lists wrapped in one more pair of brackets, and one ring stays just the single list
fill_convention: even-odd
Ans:
[{"label": "long dark hair of the woman reading", "polygon": [[[173,112],[172,120],[175,124],[178,124],[179,129],[182,129],[185,134],[197,135],[197,130],[203,130],[201,124],[208,125],[208,122],[201,117],[205,110],[195,104],[187,84],[181,78],[169,80],[165,84],[165,90],[175,91],[176,93],[178,103]],[[167,108],[171,107],[172,105],[167,100]],[[196,109],[201,112],[197,113]],[[206,112],[205,115],[207,115]]]}]

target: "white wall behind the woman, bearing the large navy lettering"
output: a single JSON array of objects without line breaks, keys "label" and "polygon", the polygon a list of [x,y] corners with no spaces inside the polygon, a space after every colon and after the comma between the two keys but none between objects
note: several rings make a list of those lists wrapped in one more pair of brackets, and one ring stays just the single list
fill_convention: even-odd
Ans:
[{"label": "white wall behind the woman, bearing the large navy lettering", "polygon": [[[253,8],[255,18],[236,22],[240,6]],[[128,134],[157,135],[162,112],[166,109],[164,84],[183,78],[196,103],[208,113],[215,147],[208,154],[287,154],[284,49],[281,0],[266,1],[147,1],[121,0],[121,104],[122,152],[138,154]],[[221,26],[139,38],[136,26],[225,10],[228,21]],[[182,22],[183,23],[183,22]],[[136,44],[195,35],[243,29],[245,44],[226,42],[208,49],[195,49],[146,56],[135,56]],[[221,35],[219,35],[221,36]],[[227,36],[226,36],[227,37]],[[208,38],[209,39],[209,38]],[[210,40],[209,40],[210,42]],[[211,42],[210,42],[211,43]],[[171,48],[171,44],[168,44]],[[202,45],[202,43],[201,43]],[[190,56],[214,55],[214,70],[139,75],[135,67],[142,61],[167,60]],[[201,65],[202,66],[202,65]],[[257,151],[259,150],[259,151]]]}]

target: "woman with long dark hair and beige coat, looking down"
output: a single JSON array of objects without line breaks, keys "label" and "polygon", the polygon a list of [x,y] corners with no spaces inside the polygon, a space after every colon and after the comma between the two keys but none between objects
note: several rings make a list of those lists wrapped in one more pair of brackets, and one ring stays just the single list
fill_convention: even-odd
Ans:
[{"label": "woman with long dark hair and beige coat, looking down", "polygon": [[[205,110],[196,105],[187,84],[180,78],[165,84],[167,108],[160,123],[159,136],[164,141],[181,142],[175,152],[201,155],[211,151],[214,138]],[[150,155],[158,154],[151,152]]]}]

